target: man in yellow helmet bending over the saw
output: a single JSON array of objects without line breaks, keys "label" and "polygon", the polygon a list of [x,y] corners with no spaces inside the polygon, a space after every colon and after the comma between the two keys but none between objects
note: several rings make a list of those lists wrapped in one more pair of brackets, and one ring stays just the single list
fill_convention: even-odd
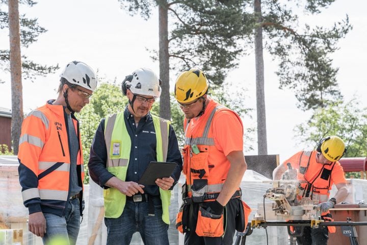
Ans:
[{"label": "man in yellow helmet bending over the saw", "polygon": [[[318,209],[325,221],[332,221],[330,208],[343,202],[348,195],[343,167],[338,160],[346,153],[344,141],[337,136],[329,136],[322,140],[316,151],[301,151],[277,166],[273,171],[273,180],[280,180],[287,171],[287,164],[298,170],[297,179],[305,180],[300,183],[297,200],[310,198],[318,200]],[[337,192],[329,199],[329,190],[335,184]],[[300,233],[299,227],[296,232]],[[319,227],[316,229],[304,227],[302,236],[297,237],[298,244],[327,244],[329,232],[334,233],[335,227]]]}]

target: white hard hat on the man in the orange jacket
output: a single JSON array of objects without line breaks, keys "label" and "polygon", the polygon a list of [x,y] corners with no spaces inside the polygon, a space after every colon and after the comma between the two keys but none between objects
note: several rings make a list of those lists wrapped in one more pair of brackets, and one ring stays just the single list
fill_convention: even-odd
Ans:
[{"label": "white hard hat on the man in the orange jacket", "polygon": [[72,61],[68,63],[60,74],[71,84],[79,85],[83,88],[94,91],[97,87],[97,76],[93,69],[86,63]]}]

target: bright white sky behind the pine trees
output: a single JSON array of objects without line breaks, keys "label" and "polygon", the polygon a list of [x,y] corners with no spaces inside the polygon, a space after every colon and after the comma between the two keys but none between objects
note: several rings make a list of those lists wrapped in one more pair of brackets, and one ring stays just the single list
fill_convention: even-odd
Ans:
[{"label": "bright white sky behind the pine trees", "polygon": [[[5,6],[6,7],[6,6]],[[317,17],[306,17],[305,21],[331,27],[334,21],[349,15],[353,30],[339,42],[340,50],[332,57],[334,66],[339,67],[337,80],[345,100],[356,94],[362,100],[367,91],[365,70],[367,62],[367,15],[365,1],[351,3],[337,0],[329,9]],[[29,112],[43,105],[46,100],[56,97],[59,74],[64,66],[73,60],[83,61],[95,70],[99,77],[121,82],[125,75],[139,67],[149,67],[159,74],[159,63],[150,59],[148,50],[158,50],[158,14],[153,13],[148,21],[129,16],[121,10],[117,0],[63,0],[39,1],[32,8],[21,7],[20,13],[37,17],[40,26],[48,32],[41,34],[37,42],[29,48],[22,48],[22,54],[40,64],[61,67],[56,74],[40,77],[36,82],[23,81],[23,109]],[[7,31],[0,31],[0,48],[9,48]],[[243,57],[240,66],[232,70],[228,80],[234,81],[232,89],[243,90],[247,107],[256,109],[255,65],[253,54]],[[278,79],[274,74],[276,62],[265,54],[265,96],[267,115],[268,154],[279,154],[280,160],[302,150],[294,138],[293,129],[306,121],[310,113],[296,107],[292,92],[278,89]],[[171,88],[176,75],[171,72]],[[1,71],[0,78],[7,81],[0,84],[0,107],[11,108],[10,74]],[[256,113],[253,119],[244,118],[246,126],[256,126]],[[256,136],[253,136],[256,139]],[[246,155],[257,154],[255,151]]]}]

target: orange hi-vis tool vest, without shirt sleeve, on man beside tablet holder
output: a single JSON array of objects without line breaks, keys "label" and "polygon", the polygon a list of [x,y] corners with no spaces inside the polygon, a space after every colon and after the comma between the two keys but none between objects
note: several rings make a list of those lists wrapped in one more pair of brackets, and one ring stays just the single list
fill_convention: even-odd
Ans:
[{"label": "orange hi-vis tool vest, without shirt sleeve, on man beside tablet holder", "polygon": [[[219,193],[227,178],[230,162],[223,152],[218,153],[213,136],[213,118],[216,113],[230,109],[212,101],[205,113],[199,117],[194,130],[190,127],[191,121],[187,123],[185,119],[185,148],[183,155],[183,174],[186,176],[186,187],[183,194],[192,198],[193,202],[203,202],[216,199],[213,193]],[[234,113],[239,120],[240,117]],[[215,151],[216,150],[216,151]],[[221,154],[208,161],[209,155]],[[186,192],[186,193],[185,193]]]}]

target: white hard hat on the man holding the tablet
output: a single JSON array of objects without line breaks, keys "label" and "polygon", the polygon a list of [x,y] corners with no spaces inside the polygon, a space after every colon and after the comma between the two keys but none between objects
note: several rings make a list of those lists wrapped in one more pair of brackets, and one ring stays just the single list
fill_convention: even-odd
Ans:
[{"label": "white hard hat on the man holding the tablet", "polygon": [[[158,98],[161,96],[161,80],[148,68],[139,68],[125,81],[126,88],[134,94]],[[124,85],[123,85],[124,86]]]}]

